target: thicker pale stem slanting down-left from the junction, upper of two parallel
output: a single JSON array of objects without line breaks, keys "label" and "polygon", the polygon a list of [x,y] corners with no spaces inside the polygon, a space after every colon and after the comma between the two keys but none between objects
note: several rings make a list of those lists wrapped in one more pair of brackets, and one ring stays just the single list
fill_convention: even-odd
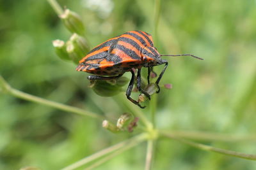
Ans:
[{"label": "thicker pale stem slanting down-left from the junction, upper of two parallel", "polygon": [[138,145],[139,143],[144,141],[146,138],[147,138],[147,134],[144,134],[144,133],[140,134],[133,138],[122,141],[121,143],[110,146],[104,150],[100,150],[99,152],[94,153],[93,155],[90,155],[88,157],[85,157],[84,159],[81,159],[78,162],[71,164],[70,166],[64,167],[62,170],[71,170],[71,169],[76,169],[77,167],[84,166],[85,164],[88,164],[89,162],[92,162],[95,159],[99,159],[100,157],[107,155],[108,153],[115,152],[116,150],[119,150],[120,148],[124,148],[127,145],[132,145],[132,146]]}]

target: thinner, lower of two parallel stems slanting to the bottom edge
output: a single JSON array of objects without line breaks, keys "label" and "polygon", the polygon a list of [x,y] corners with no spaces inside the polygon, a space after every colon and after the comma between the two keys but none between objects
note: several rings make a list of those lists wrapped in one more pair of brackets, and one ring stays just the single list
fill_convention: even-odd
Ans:
[{"label": "thinner, lower of two parallel stems slanting to the bottom edge", "polygon": [[98,160],[97,162],[93,163],[91,166],[86,167],[86,170],[89,169],[94,169],[97,166],[100,166],[101,164],[104,164],[105,162],[107,162],[110,159],[113,159],[114,157],[116,157],[117,155],[119,155],[120,153],[124,152],[125,150],[128,150],[129,148],[132,148],[133,146],[138,145],[139,143],[131,143],[130,145],[126,145],[123,148],[120,148],[120,150],[117,150],[116,152],[110,153],[108,156]]}]

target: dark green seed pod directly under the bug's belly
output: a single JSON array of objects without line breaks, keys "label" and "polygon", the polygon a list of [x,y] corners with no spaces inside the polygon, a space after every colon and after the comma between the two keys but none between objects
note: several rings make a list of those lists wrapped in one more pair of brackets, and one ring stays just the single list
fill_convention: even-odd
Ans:
[{"label": "dark green seed pod directly under the bug's belly", "polygon": [[122,87],[129,81],[126,77],[120,77],[115,80],[92,80],[90,87],[99,96],[111,97],[123,92]]}]

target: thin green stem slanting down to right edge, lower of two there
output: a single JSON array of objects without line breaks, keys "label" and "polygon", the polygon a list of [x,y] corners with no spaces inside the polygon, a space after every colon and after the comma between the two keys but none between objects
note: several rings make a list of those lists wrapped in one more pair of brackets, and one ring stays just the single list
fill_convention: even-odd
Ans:
[{"label": "thin green stem slanting down to right edge, lower of two there", "polygon": [[193,141],[182,139],[182,138],[179,138],[179,137],[174,136],[172,134],[167,134],[167,133],[164,133],[164,132],[161,132],[161,134],[165,137],[175,139],[175,140],[177,140],[181,143],[185,143],[187,145],[193,146],[193,147],[201,149],[201,150],[221,153],[221,154],[229,155],[229,156],[232,156],[232,157],[239,157],[239,158],[243,158],[243,159],[256,160],[256,155],[234,152],[234,151],[231,151],[231,150],[223,150],[221,148],[215,148],[215,147],[204,145],[204,144],[201,144],[201,143],[195,143]]}]

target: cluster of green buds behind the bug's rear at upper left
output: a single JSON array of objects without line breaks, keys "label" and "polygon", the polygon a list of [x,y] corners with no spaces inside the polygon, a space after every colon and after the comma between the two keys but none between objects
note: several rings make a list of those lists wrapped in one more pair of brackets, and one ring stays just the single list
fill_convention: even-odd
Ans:
[{"label": "cluster of green buds behind the bug's rear at upper left", "polygon": [[73,34],[66,43],[57,39],[52,41],[52,45],[60,59],[72,60],[77,64],[90,50],[88,41],[84,37],[83,22],[77,13],[68,9],[60,15],[60,18],[65,27]]}]

